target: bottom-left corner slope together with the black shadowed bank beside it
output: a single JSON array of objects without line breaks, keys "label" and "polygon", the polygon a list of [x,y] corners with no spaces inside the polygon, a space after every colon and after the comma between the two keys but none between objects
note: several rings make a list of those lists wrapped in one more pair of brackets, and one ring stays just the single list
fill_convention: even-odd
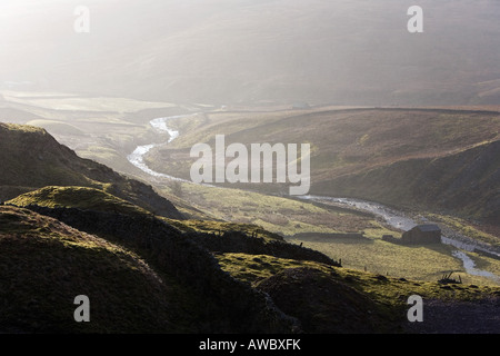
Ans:
[{"label": "bottom-left corner slope together with the black shadowed bank beside it", "polygon": [[[9,313],[0,317],[6,333],[293,332],[297,322],[266,295],[230,278],[189,236],[150,215],[30,207],[0,209],[0,240],[4,244],[0,260],[16,266],[2,269],[2,285],[24,286],[2,288],[2,305],[10,305]],[[92,240],[100,243],[93,247]],[[137,256],[138,261],[129,261],[123,253],[124,266],[120,266],[113,261],[121,256],[120,250]],[[13,275],[12,270],[19,273]],[[144,276],[137,276],[140,271]],[[29,283],[33,278],[39,280],[36,285]],[[64,300],[72,300],[68,294],[77,289],[74,296],[86,291],[92,301],[97,323],[88,327],[76,325],[72,312],[68,314],[71,304],[59,308]],[[50,303],[39,308],[40,314],[27,315],[24,300],[36,308],[46,298]],[[108,310],[109,304],[113,306]]]}]

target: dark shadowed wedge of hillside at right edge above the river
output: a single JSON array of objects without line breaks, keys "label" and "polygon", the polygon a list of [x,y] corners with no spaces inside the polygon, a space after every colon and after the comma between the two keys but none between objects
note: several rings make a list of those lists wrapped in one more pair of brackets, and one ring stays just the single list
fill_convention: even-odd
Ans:
[{"label": "dark shadowed wedge of hillside at right edge above the river", "polygon": [[320,184],[316,191],[429,207],[492,225],[500,221],[500,141],[439,158],[416,158]]}]

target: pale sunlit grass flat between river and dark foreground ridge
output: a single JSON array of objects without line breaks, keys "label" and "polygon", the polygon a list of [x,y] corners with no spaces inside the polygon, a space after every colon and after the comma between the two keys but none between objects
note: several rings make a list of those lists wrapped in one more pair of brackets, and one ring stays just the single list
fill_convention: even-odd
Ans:
[{"label": "pale sunlit grass flat between river and dark foreground ridge", "polygon": [[[292,236],[298,233],[361,233],[381,238],[393,233],[373,218],[327,208],[312,202],[240,189],[207,187],[182,182],[180,198],[212,219],[252,224],[271,233]],[[171,195],[170,188],[162,188]]]}]

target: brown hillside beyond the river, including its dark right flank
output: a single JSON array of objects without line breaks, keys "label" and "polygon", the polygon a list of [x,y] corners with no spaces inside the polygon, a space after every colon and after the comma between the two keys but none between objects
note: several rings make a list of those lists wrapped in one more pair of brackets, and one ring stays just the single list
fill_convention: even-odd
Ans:
[{"label": "brown hillside beyond the river, including its dark right flank", "polygon": [[[147,156],[153,170],[190,179],[196,142],[309,142],[310,194],[349,196],[498,224],[498,111],[456,109],[336,109],[211,112],[180,119],[181,137]],[[183,129],[183,127],[189,127]],[[282,185],[236,184],[282,194]]]}]

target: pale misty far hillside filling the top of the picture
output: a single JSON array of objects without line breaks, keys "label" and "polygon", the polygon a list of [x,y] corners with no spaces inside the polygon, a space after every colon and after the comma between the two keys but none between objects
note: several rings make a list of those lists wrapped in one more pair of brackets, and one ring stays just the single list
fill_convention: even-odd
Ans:
[{"label": "pale misty far hillside filling the top of the picture", "polygon": [[[423,32],[407,11],[423,9]],[[89,10],[87,32],[76,31]],[[2,1],[0,89],[212,105],[488,105],[497,1]]]}]

